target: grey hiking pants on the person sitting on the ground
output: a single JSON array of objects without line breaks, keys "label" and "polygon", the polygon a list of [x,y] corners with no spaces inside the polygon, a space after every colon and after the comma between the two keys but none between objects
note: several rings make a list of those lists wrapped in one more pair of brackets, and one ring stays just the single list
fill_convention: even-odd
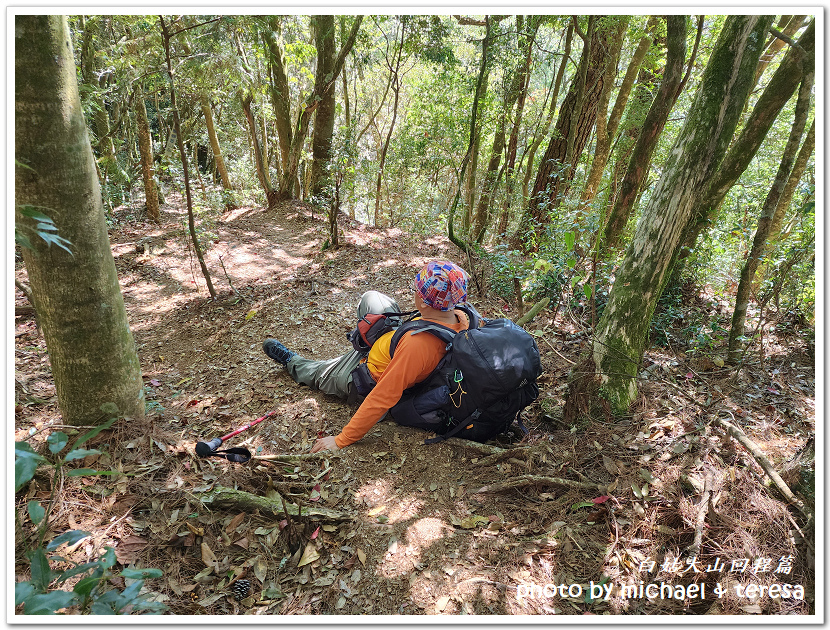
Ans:
[{"label": "grey hiking pants on the person sitting on the ground", "polygon": [[[367,313],[386,313],[399,311],[398,303],[378,291],[364,293],[357,305],[357,318]],[[285,367],[289,376],[300,385],[308,385],[312,389],[340,398],[349,398],[352,371],[360,363],[362,355],[357,350],[349,350],[336,359],[316,361],[295,356]]]}]

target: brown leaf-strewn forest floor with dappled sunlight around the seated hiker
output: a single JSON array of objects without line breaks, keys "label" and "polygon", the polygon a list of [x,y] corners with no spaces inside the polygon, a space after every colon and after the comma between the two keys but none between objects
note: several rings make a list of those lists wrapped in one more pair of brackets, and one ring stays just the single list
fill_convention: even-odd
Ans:
[{"label": "brown leaf-strewn forest floor with dappled sunlight around the seated hiker", "polygon": [[[734,367],[654,347],[629,418],[566,420],[568,374],[590,336],[573,313],[554,320],[545,311],[527,326],[545,373],[523,441],[426,446],[424,432],[384,421],[337,453],[285,458],[307,454],[320,431],[337,434],[353,409],[291,381],[263,340],[337,356],[364,291],[410,307],[424,262],[468,261],[442,236],[348,219],[345,243],[324,251],[327,225],[310,207],[245,207],[209,226],[214,301],[181,206],[163,206],[160,225],[137,215],[117,209],[110,238],[148,419],[101,434],[105,454],[83,462],[115,474],[64,480],[52,531],[92,534],[64,555],[86,561],[111,546],[125,566],[162,569],[145,587],[177,615],[814,613],[813,524],[715,422],[740,426],[798,486],[815,432],[815,362],[801,337],[767,331],[763,362],[754,352],[737,377]],[[26,281],[19,262],[16,277]],[[487,317],[516,316],[492,293],[471,297]],[[19,291],[16,305],[27,306]],[[700,296],[684,308],[717,316]],[[71,430],[43,337],[20,310],[15,435],[42,448],[50,431]],[[195,456],[196,442],[271,410],[229,441],[250,449],[251,462]],[[523,483],[493,487],[510,480]],[[220,487],[231,490],[224,501]],[[318,516],[254,509],[243,492],[281,495]],[[25,514],[28,499],[49,493],[38,476],[18,508]],[[32,529],[25,517],[23,529]],[[696,532],[700,551],[687,562]],[[20,536],[16,552],[23,579]],[[238,601],[240,579],[250,591]],[[792,587],[760,588],[776,583]],[[656,597],[639,589],[649,584]]]}]

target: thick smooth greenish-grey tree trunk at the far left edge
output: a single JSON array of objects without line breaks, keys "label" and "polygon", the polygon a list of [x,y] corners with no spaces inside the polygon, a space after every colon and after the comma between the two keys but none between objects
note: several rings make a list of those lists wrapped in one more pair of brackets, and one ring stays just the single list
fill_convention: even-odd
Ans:
[{"label": "thick smooth greenish-grey tree trunk at the far left edge", "polygon": [[49,214],[70,255],[32,239],[23,249],[64,422],[97,424],[114,404],[144,417],[144,390],[112,257],[95,158],[78,97],[64,16],[15,20],[15,220]]}]

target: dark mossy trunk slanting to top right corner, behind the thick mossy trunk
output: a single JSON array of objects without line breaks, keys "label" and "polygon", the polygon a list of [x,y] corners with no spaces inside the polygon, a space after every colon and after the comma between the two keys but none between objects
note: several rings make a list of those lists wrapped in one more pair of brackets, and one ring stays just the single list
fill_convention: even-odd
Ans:
[{"label": "dark mossy trunk slanting to top right corner, behind the thick mossy trunk", "polygon": [[[807,55],[815,55],[815,34],[815,20],[813,20],[798,39],[798,45]],[[718,172],[714,174],[706,190],[701,191],[699,199],[695,202],[694,213],[684,231],[683,241],[678,246],[678,258],[688,256],[694,250],[703,230],[715,221],[724,197],[749,166],[772,127],[772,123],[795,93],[801,82],[800,55],[801,53],[792,47],[784,55],[781,64],[764,89],[764,93],[758,98],[740,135],[730,147]]]}]

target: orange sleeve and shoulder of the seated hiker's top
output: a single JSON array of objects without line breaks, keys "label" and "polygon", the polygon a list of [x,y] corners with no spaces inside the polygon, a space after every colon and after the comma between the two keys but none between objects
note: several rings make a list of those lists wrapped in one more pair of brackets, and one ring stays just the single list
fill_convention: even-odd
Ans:
[{"label": "orange sleeve and shoulder of the seated hiker's top", "polygon": [[[450,326],[456,332],[467,330],[469,320],[456,310],[458,321]],[[388,333],[392,334],[392,333]],[[382,339],[382,338],[381,338]],[[381,342],[379,339],[377,343]],[[388,347],[388,346],[387,346]],[[375,426],[384,414],[401,399],[404,390],[426,379],[447,353],[447,345],[435,335],[420,333],[404,335],[395,349],[395,356],[381,374],[373,374],[378,384],[369,392],[360,408],[343,427],[335,442],[339,448],[357,442]]]}]

